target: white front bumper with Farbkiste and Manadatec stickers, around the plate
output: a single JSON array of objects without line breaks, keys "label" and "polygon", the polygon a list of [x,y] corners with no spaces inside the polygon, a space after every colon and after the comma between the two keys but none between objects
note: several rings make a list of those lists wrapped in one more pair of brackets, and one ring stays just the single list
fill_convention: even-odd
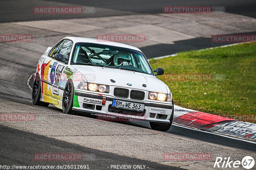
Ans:
[{"label": "white front bumper with Farbkiste and Manadatec stickers, around the plate", "polygon": [[[106,99],[106,101],[104,99]],[[114,99],[144,104],[144,111],[139,112],[112,107]],[[72,110],[125,119],[170,123],[169,119],[172,115],[173,104],[137,101],[75,90]]]}]

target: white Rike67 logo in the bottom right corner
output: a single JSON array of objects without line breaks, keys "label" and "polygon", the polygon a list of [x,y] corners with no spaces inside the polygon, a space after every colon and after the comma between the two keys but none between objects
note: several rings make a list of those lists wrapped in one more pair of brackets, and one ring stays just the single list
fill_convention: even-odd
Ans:
[{"label": "white Rike67 logo in the bottom right corner", "polygon": [[[238,168],[241,165],[245,168],[245,169],[251,169],[254,166],[254,159],[251,156],[245,156],[242,161],[240,160],[230,160],[230,157],[228,157],[228,159],[225,157],[224,159],[222,159],[221,157],[217,157],[214,163],[214,168],[218,167],[218,168],[231,168],[232,166],[234,168]],[[240,168],[239,168],[240,169]]]}]

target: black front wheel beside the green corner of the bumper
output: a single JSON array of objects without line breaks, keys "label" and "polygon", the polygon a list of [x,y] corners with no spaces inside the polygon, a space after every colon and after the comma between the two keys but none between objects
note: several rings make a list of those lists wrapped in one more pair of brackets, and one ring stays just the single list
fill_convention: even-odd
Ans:
[{"label": "black front wheel beside the green corner of the bumper", "polygon": [[72,110],[74,100],[74,85],[71,80],[69,80],[64,89],[62,97],[62,110],[63,113],[73,115],[76,111]]}]

